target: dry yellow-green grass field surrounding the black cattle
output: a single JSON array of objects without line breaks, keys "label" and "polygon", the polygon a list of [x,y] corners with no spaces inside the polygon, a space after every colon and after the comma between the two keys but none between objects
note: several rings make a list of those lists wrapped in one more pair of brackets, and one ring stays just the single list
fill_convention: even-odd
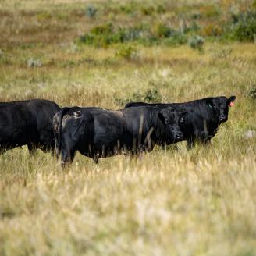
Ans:
[{"label": "dry yellow-green grass field surrounding the black cattle", "polygon": [[[236,95],[208,147],[187,151],[182,142],[98,165],[77,154],[64,171],[42,151],[1,155],[0,255],[255,255],[256,44],[225,28],[234,12],[255,8],[229,0],[0,0],[0,101],[118,109],[130,100]],[[142,20],[134,40],[95,32]],[[84,43],[85,34],[101,44]],[[196,34],[202,48],[191,47]]]}]

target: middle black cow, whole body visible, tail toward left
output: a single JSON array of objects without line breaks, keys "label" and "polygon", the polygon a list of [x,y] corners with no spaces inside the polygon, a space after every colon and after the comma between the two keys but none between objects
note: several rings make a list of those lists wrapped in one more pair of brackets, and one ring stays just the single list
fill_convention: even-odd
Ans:
[{"label": "middle black cow, whole body visible, tail toward left", "polygon": [[155,144],[172,144],[183,138],[178,126],[186,112],[176,108],[140,107],[122,110],[62,108],[53,118],[57,156],[62,166],[73,162],[76,151],[98,158],[124,152],[151,151]]}]

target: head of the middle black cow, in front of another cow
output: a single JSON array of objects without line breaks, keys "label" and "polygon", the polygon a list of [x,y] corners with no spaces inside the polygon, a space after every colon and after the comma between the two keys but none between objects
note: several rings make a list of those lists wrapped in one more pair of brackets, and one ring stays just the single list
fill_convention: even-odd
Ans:
[{"label": "head of the middle black cow, in front of another cow", "polygon": [[158,113],[159,119],[165,125],[167,144],[183,140],[183,132],[180,130],[180,120],[187,115],[183,110],[177,111],[176,108],[169,107]]}]

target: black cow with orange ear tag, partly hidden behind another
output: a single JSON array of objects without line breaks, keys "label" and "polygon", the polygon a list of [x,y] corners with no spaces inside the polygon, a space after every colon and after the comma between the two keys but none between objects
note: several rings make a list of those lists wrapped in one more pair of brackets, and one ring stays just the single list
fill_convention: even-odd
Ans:
[{"label": "black cow with orange ear tag, partly hidden behind another", "polygon": [[202,98],[196,101],[185,103],[153,103],[130,102],[125,108],[139,106],[156,106],[158,108],[183,108],[188,115],[181,120],[180,130],[183,132],[183,139],[187,140],[187,147],[190,149],[197,141],[202,144],[210,143],[212,137],[218,130],[220,123],[228,119],[229,107],[233,105],[236,96],[226,98],[225,96],[215,98]]}]

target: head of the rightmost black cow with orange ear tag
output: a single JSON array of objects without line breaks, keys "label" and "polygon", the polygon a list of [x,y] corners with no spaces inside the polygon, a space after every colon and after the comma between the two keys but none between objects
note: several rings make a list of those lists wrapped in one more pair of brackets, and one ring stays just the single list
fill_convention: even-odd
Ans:
[{"label": "head of the rightmost black cow with orange ear tag", "polygon": [[208,98],[206,103],[208,108],[212,109],[215,119],[218,119],[219,123],[227,121],[229,116],[229,107],[233,106],[233,102],[236,100],[236,96],[226,98],[225,96]]}]

